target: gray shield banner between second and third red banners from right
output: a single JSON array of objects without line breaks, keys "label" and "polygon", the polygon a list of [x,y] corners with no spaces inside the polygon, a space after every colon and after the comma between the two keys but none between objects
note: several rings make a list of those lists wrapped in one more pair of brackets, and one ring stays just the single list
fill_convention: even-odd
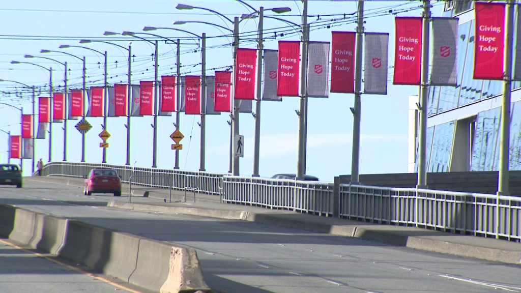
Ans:
[{"label": "gray shield banner between second and third red banners from right", "polygon": [[364,94],[387,94],[388,33],[365,33]]}]

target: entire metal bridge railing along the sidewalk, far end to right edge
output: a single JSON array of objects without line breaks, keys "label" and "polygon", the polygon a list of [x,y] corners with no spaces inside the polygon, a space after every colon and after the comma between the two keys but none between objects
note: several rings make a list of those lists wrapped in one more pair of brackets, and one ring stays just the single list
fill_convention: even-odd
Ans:
[{"label": "entire metal bridge railing along the sidewalk, far end to right edge", "polygon": [[132,185],[179,191],[190,187],[220,196],[224,203],[521,240],[520,197],[93,163],[51,162],[42,176],[82,177],[99,167],[116,169],[123,182],[133,176]]}]

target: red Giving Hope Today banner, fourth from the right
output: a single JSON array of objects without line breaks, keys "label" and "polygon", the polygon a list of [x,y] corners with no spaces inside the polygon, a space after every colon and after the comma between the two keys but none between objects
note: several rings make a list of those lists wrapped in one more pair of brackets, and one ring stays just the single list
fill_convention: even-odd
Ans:
[{"label": "red Giving Hope Today banner, fourth from the right", "polygon": [[279,41],[277,96],[299,96],[300,41]]}]

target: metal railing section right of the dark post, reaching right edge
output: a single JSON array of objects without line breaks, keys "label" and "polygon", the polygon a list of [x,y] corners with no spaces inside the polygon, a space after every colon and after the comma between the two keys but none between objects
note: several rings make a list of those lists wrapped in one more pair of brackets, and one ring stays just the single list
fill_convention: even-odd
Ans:
[{"label": "metal railing section right of the dark post, reaching right edge", "polygon": [[521,240],[519,197],[343,184],[339,190],[341,217]]}]

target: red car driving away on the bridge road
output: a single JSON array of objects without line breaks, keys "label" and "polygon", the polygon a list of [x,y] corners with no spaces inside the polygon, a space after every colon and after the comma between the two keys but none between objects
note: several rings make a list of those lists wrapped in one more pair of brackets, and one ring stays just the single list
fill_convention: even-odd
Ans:
[{"label": "red car driving away on the bridge road", "polygon": [[114,193],[115,197],[121,196],[121,179],[114,169],[92,169],[85,179],[83,194],[90,196],[92,193]]}]

